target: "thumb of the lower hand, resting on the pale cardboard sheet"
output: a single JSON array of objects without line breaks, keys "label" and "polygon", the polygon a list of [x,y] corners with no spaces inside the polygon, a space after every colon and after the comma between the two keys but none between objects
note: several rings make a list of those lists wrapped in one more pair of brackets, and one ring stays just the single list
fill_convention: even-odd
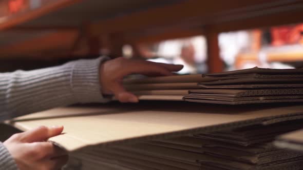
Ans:
[{"label": "thumb of the lower hand, resting on the pale cardboard sheet", "polygon": [[39,128],[29,130],[23,133],[22,141],[24,142],[40,142],[46,141],[48,138],[60,135],[63,131],[63,126],[40,126]]}]

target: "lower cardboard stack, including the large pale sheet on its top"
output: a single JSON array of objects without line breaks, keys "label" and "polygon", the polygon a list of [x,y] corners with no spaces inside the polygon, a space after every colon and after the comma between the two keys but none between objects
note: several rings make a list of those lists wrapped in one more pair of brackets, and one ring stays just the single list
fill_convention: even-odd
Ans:
[{"label": "lower cardboard stack, including the large pale sheet on its top", "polygon": [[9,123],[21,130],[63,124],[64,134],[50,140],[70,151],[67,169],[303,168],[302,154],[270,144],[302,127],[298,104],[108,103],[53,109]]}]

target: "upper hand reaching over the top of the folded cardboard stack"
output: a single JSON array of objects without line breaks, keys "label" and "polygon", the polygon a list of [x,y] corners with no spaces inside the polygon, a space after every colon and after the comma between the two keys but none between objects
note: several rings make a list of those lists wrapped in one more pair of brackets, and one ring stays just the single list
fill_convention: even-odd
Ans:
[{"label": "upper hand reaching over the top of the folded cardboard stack", "polygon": [[122,79],[129,74],[146,76],[170,76],[183,68],[182,65],[145,60],[116,58],[106,61],[100,66],[100,83],[103,94],[114,94],[120,102],[138,102],[137,96],[127,92],[122,86]]}]

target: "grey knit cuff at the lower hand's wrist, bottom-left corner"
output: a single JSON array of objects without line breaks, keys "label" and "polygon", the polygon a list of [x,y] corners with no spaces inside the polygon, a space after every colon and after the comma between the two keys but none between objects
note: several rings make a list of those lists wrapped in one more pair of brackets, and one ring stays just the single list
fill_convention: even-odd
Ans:
[{"label": "grey knit cuff at the lower hand's wrist, bottom-left corner", "polygon": [[18,170],[14,158],[7,148],[0,142],[0,170]]}]

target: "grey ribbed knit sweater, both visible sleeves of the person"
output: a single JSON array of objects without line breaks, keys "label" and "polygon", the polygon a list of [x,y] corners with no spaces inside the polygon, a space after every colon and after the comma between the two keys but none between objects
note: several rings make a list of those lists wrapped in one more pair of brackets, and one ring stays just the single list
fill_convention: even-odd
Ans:
[{"label": "grey ribbed knit sweater, both visible sleeves of the person", "polygon": [[[0,121],[74,103],[106,102],[99,83],[99,66],[105,59],[82,59],[46,69],[0,73]],[[0,143],[0,170],[4,169],[17,167]]]}]

